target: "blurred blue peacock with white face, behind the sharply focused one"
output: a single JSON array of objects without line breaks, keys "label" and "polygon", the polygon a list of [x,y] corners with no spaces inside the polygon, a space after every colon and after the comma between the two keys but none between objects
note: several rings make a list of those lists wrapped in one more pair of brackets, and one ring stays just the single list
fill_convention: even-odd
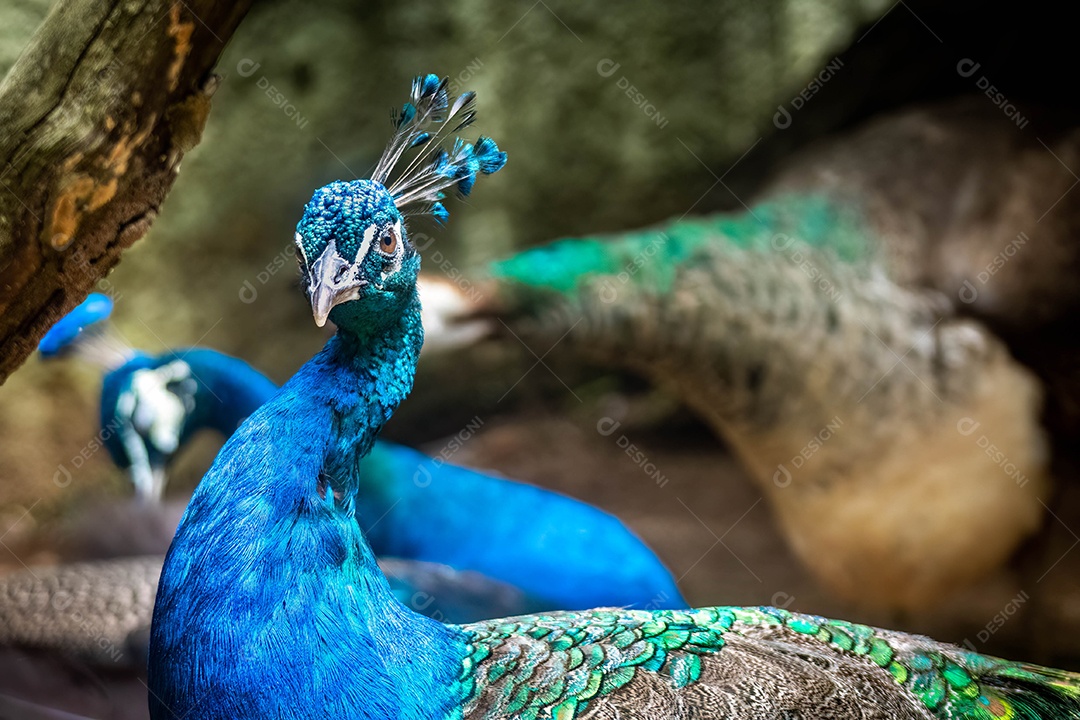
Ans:
[{"label": "blurred blue peacock with white face, behind the sharply focused one", "polygon": [[[192,436],[210,429],[228,437],[278,389],[215,350],[135,351],[104,322],[111,311],[107,296],[92,294],[45,335],[40,352],[105,365],[104,444],[129,468],[136,494],[154,503],[170,461]],[[380,558],[394,558],[383,565],[395,594],[419,597],[411,604],[440,619],[595,604],[686,607],[652,551],[618,518],[580,501],[387,441],[373,446],[357,478],[364,490],[356,518]],[[491,517],[476,528],[484,515]],[[130,544],[158,552],[140,539]],[[484,595],[491,607],[484,607]]]}]

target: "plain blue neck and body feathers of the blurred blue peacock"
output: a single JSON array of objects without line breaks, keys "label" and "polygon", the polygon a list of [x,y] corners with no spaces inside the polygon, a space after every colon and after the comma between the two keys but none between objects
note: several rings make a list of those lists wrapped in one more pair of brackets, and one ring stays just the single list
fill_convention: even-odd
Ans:
[{"label": "plain blue neck and body feathers of the blurred blue peacock", "polygon": [[[278,393],[251,365],[214,350],[140,353],[106,376],[102,426],[113,427],[117,394],[133,372],[177,358],[191,366],[198,388],[181,446],[205,427],[230,436]],[[127,466],[116,432],[106,445]],[[544,609],[687,607],[656,555],[618,518],[585,503],[381,440],[353,475],[356,517],[378,556],[474,570],[521,588]]]}]

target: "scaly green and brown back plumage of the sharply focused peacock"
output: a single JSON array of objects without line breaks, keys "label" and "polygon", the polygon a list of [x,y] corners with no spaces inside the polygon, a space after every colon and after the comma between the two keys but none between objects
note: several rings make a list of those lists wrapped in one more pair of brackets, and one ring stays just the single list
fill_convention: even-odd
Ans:
[{"label": "scaly green and brown back plumage of the sharply focused peacock", "polygon": [[465,626],[462,718],[1080,717],[1080,676],[778,608]]}]

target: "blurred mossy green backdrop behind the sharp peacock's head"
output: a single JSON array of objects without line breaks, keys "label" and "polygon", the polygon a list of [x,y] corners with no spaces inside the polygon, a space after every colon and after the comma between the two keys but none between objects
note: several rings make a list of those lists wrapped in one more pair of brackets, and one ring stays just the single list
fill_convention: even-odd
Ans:
[{"label": "blurred mossy green backdrop behind the sharp peacock's head", "polygon": [[[49,5],[0,9],[0,73]],[[731,206],[714,174],[775,132],[777,105],[887,9],[883,0],[258,3],[220,63],[202,144],[149,235],[102,288],[133,345],[208,344],[284,380],[324,340],[293,287],[299,210],[313,188],[369,172],[416,73],[477,91],[474,128],[511,158],[500,181],[437,232],[432,250],[467,269],[561,235]],[[427,219],[414,225],[432,230]],[[255,300],[242,301],[242,290]],[[48,515],[80,494],[51,480],[58,462],[93,443],[98,384],[92,368],[31,358],[0,389],[9,514],[39,503],[35,514]],[[100,483],[123,488],[105,453],[91,453],[73,484]]]}]

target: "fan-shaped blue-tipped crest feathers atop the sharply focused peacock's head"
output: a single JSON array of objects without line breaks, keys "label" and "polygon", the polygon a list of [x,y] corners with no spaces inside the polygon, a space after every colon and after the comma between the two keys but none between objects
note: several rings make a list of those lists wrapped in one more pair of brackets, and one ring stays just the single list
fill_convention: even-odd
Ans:
[{"label": "fan-shaped blue-tipped crest feathers atop the sharply focused peacock's head", "polygon": [[[477,175],[490,175],[507,163],[507,153],[483,135],[475,144],[459,137],[446,149],[451,136],[472,124],[476,118],[476,93],[469,91],[451,98],[449,79],[436,74],[418,76],[413,92],[400,112],[391,113],[396,128],[372,174],[372,179],[387,188],[397,209],[413,204],[424,207],[443,222],[449,216],[441,202],[444,190],[456,188],[468,195]],[[394,175],[402,159],[416,151],[404,168]]]}]

